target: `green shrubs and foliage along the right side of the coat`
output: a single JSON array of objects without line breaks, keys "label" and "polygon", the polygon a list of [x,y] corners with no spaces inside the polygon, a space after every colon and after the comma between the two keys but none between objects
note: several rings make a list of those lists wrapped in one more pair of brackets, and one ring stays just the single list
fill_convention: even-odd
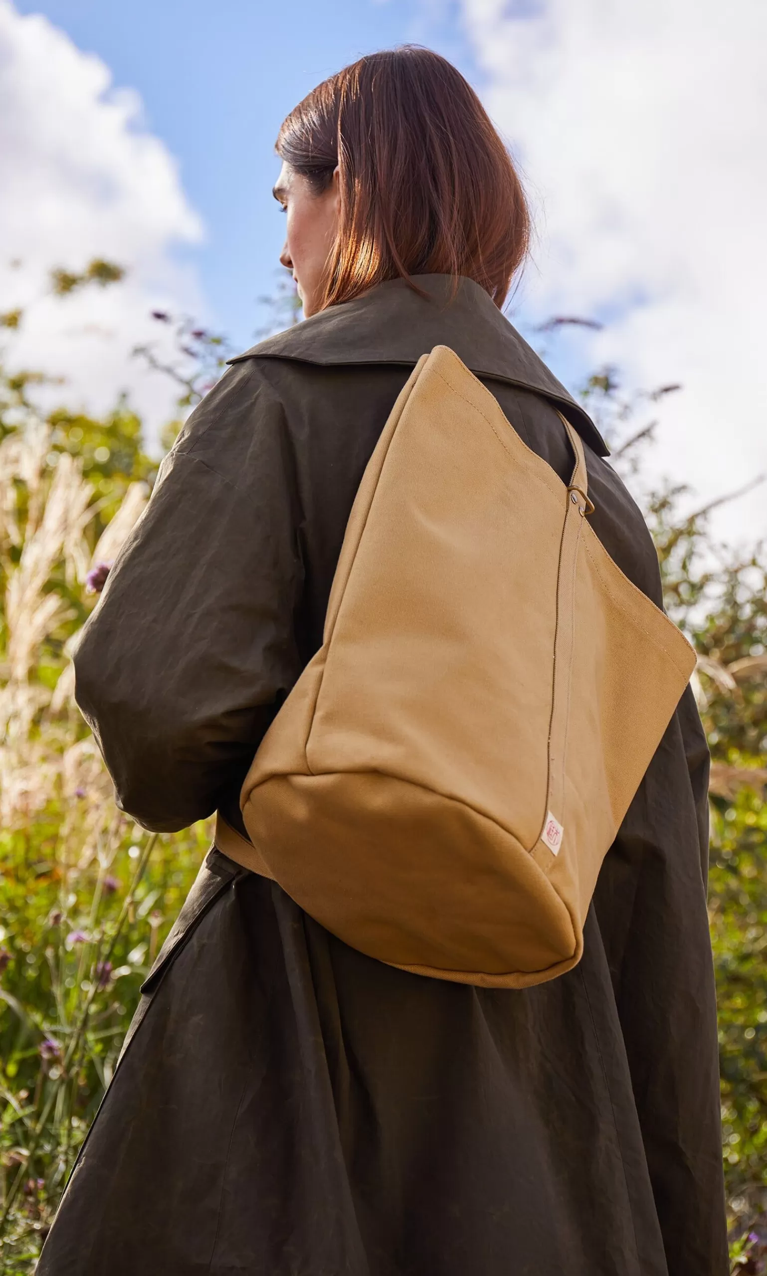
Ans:
[{"label": "green shrubs and foliage along the right side of the coat", "polygon": [[[614,370],[591,378],[583,398],[632,482],[655,421],[636,419],[662,396],[624,397]],[[628,436],[627,436],[628,431]],[[734,1270],[767,1273],[767,555],[716,544],[710,514],[689,514],[684,486],[644,494],[666,610],[698,651],[698,707],[711,749],[711,938],[717,983],[722,1136],[734,1230],[759,1233],[733,1252]],[[753,1239],[756,1238],[756,1239]]]}]

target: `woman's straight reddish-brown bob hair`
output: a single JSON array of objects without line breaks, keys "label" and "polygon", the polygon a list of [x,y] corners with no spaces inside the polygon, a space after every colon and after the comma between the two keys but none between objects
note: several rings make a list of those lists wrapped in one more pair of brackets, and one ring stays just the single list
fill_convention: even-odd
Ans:
[{"label": "woman's straight reddish-brown bob hair", "polygon": [[277,154],[318,194],[338,167],[320,309],[413,274],[467,276],[503,305],[527,254],[527,200],[477,94],[444,57],[407,45],[352,63],[291,111]]}]

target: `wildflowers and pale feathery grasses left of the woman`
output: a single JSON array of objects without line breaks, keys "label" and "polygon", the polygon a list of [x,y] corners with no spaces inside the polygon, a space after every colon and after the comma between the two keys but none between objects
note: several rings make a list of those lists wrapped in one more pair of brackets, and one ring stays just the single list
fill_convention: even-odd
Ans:
[{"label": "wildflowers and pale feathery grasses left of the woman", "polygon": [[[105,263],[64,291],[93,279]],[[105,269],[102,269],[105,267]],[[66,272],[61,272],[65,274]],[[71,287],[69,285],[71,283]],[[23,316],[14,315],[15,330]],[[9,327],[9,325],[6,325]],[[117,810],[71,646],[157,464],[121,404],[42,419],[0,366],[0,1271],[34,1267],[139,986],[209,845]],[[116,459],[115,459],[116,458]],[[123,468],[120,468],[123,467]]]}]

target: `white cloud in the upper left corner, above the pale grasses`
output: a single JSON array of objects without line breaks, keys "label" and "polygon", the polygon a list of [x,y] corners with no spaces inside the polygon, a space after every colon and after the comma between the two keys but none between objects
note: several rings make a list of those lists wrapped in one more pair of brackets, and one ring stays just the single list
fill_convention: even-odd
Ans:
[{"label": "white cloud in the upper left corner, above the pale grasses", "polygon": [[[128,389],[156,425],[172,387],[130,351],[157,329],[168,339],[151,309],[202,309],[194,272],[174,260],[176,245],[200,240],[200,221],[174,158],[143,125],[139,97],[114,89],[98,57],[9,0],[0,0],[0,309],[26,308],[9,357],[64,376],[55,397],[71,406],[103,411]],[[45,296],[51,267],[82,269],[94,256],[124,265],[125,283]]]}]

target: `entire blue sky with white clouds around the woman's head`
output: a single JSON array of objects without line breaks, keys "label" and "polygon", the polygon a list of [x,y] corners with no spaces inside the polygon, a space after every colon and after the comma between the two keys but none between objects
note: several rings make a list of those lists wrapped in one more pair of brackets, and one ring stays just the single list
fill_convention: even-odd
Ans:
[{"label": "entire blue sky with white clouds around the woman's head", "polygon": [[[283,116],[405,41],[461,68],[521,165],[536,236],[513,322],[605,320],[549,342],[556,375],[681,383],[647,470],[690,501],[767,471],[764,0],[0,0],[0,305],[26,308],[11,361],[89,411],[125,390],[156,436],[172,392],[131,357],[158,337],[151,310],[251,345],[279,273]],[[46,300],[51,265],[96,254],[129,267],[120,290]],[[767,536],[764,489],[717,521]]]}]

